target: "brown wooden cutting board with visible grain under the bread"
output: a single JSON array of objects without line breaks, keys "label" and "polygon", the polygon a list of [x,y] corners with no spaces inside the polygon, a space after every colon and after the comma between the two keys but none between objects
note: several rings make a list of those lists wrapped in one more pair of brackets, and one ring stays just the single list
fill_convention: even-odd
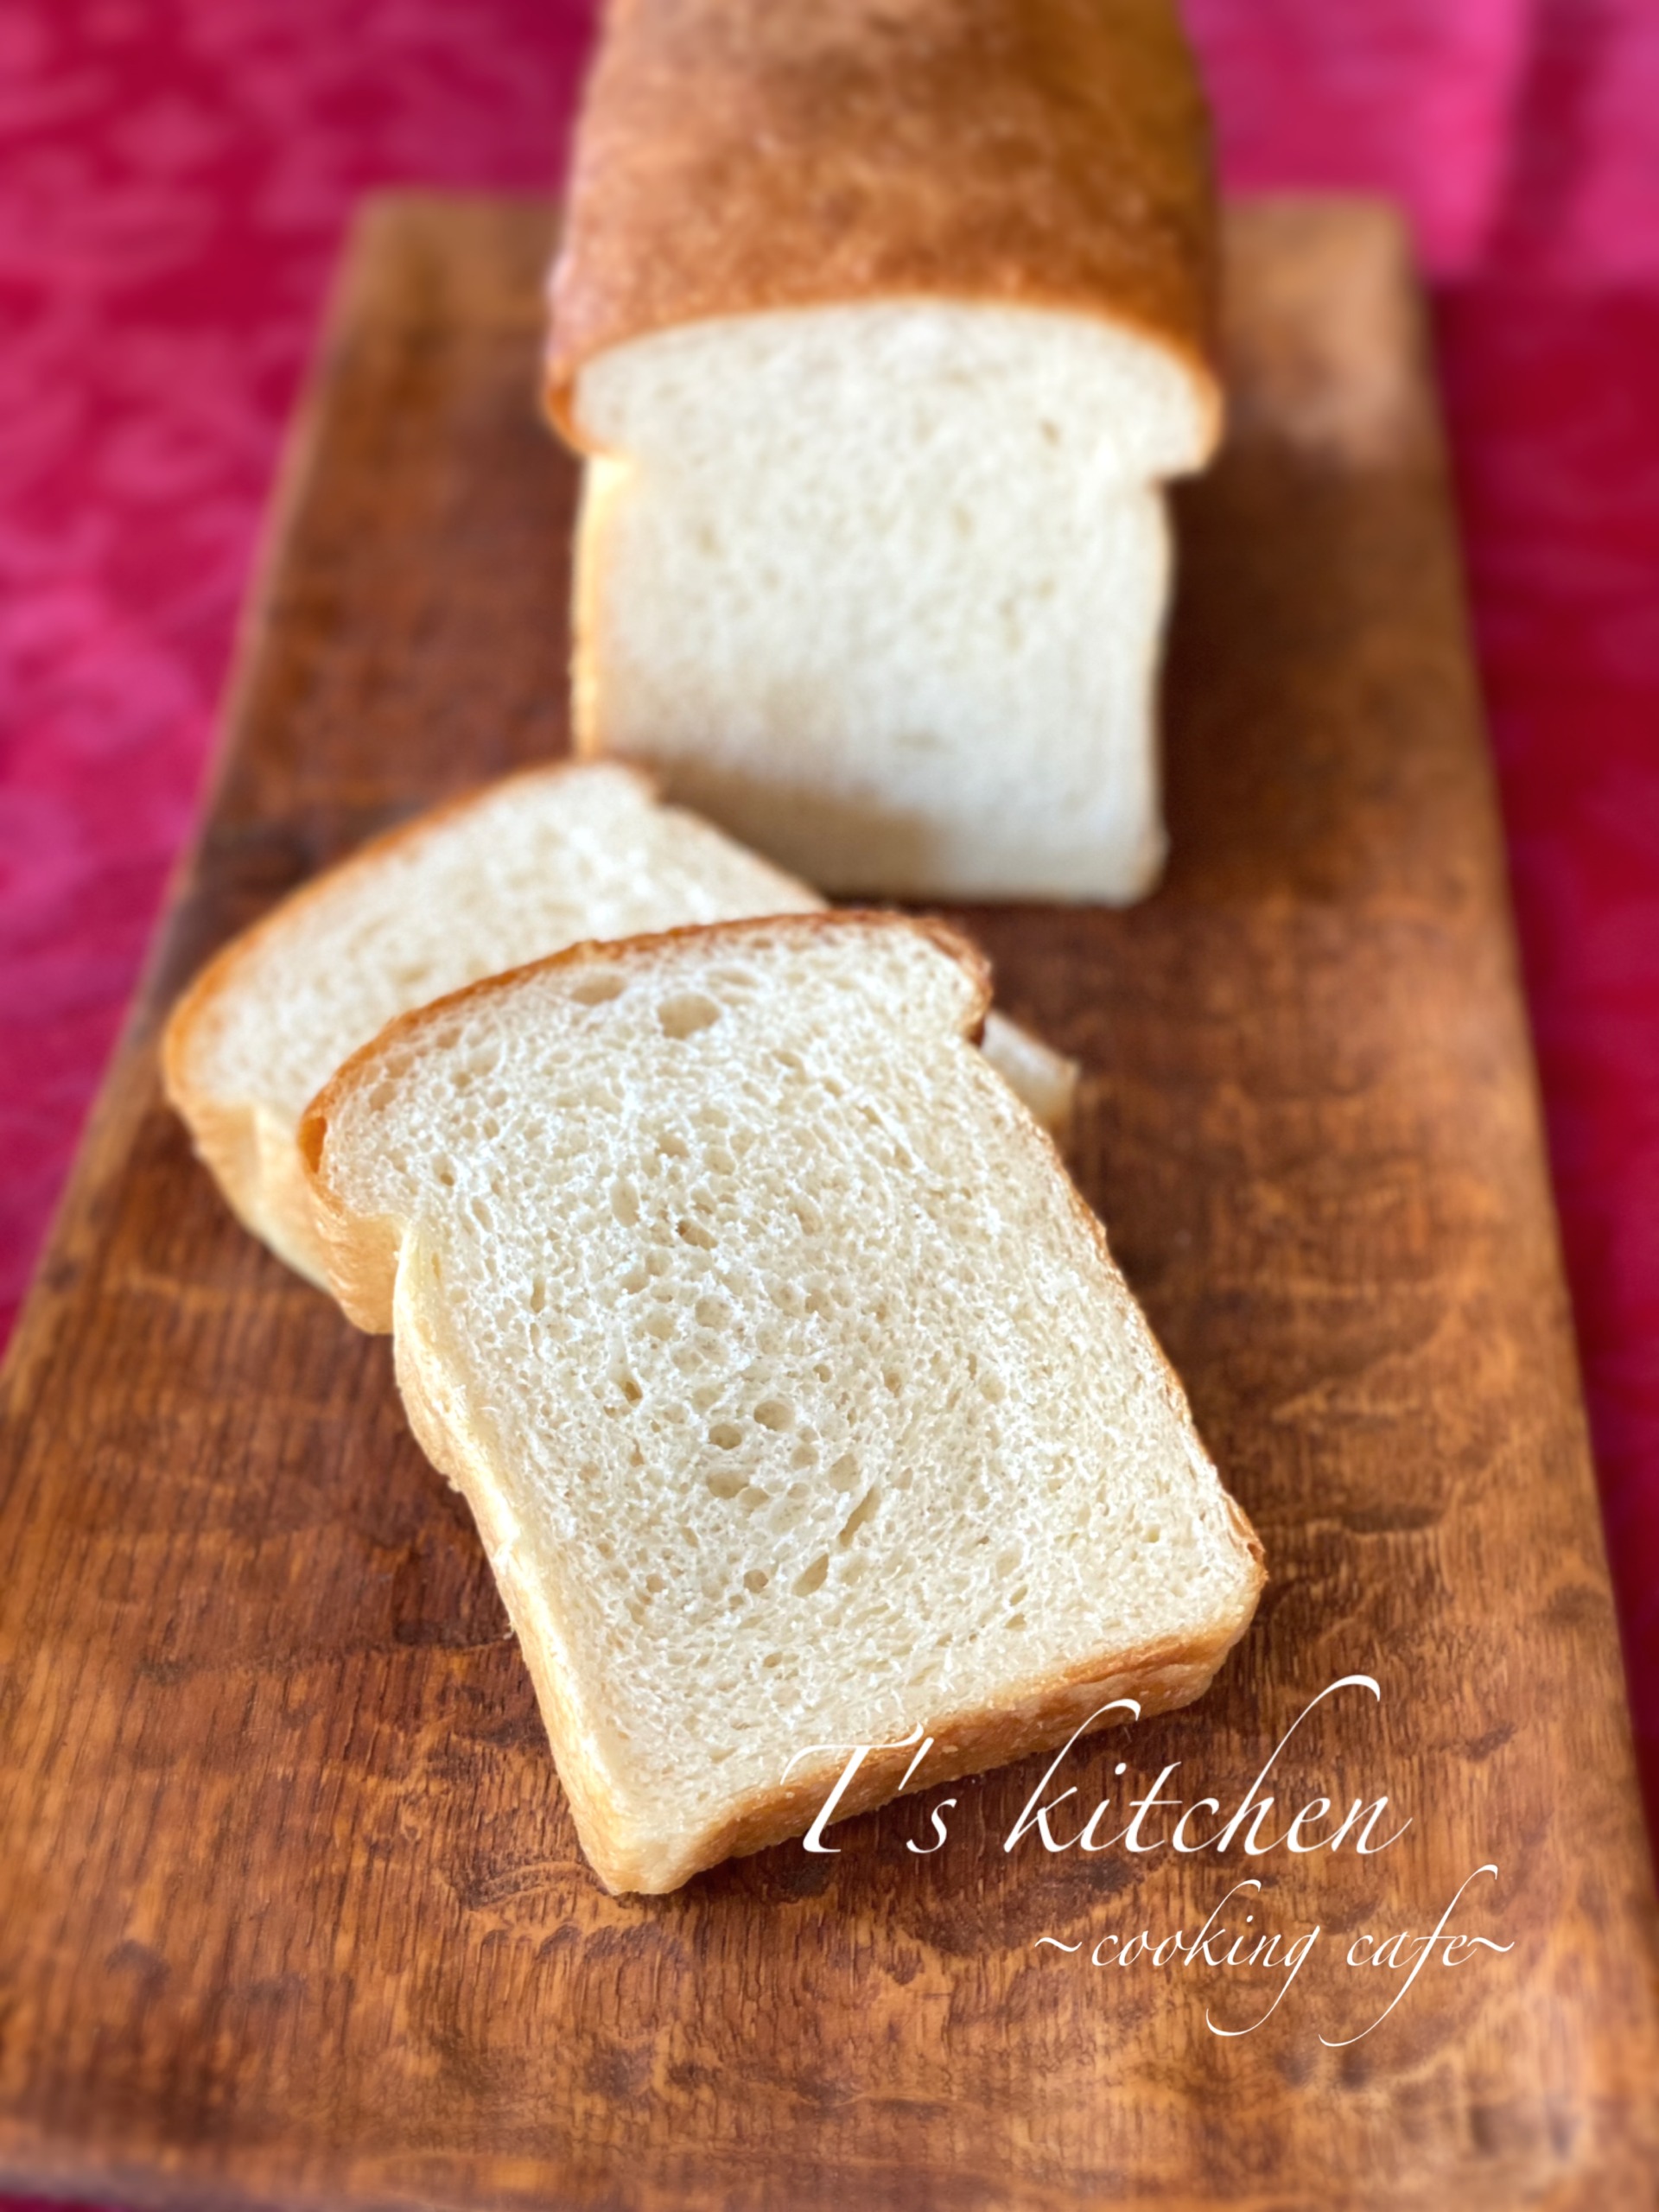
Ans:
[{"label": "brown wooden cutting board with visible grain under the bread", "polygon": [[[0,2177],[133,2205],[1650,2205],[1648,1860],[1422,323],[1374,206],[1232,219],[1232,440],[1179,498],[1168,883],[967,920],[1004,1006],[1086,1064],[1082,1183],[1272,1566],[1214,1692],[1077,1747],[1051,1832],[1150,1790],[1219,1801],[1201,1840],[1310,1701],[1376,1690],[1279,1752],[1254,1858],[1245,1825],[1177,1854],[1168,1805],[1155,1849],[1009,1851],[1031,1761],[953,1785],[931,1856],[938,1794],[670,1898],[588,1878],[387,1345],[232,1228],[155,1077],[230,929],[564,745],[549,239],[542,206],[445,199],[356,232],[208,825],[7,1369]],[[1369,1856],[1292,1851],[1318,1796],[1389,1798]],[[1436,1949],[1396,1942],[1453,1898]],[[1243,1964],[1267,1931],[1279,1964]]]}]

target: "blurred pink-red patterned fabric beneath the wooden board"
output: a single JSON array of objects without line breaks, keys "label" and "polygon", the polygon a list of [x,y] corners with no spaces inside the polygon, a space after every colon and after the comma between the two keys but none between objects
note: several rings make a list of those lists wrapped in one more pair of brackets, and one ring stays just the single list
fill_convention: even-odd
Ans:
[{"label": "blurred pink-red patterned fabric beneath the wooden board", "polygon": [[[1188,0],[1234,186],[1436,279],[1526,980],[1659,1809],[1659,0]],[[192,821],[341,226],[542,188],[588,0],[0,7],[0,1332]]]}]

